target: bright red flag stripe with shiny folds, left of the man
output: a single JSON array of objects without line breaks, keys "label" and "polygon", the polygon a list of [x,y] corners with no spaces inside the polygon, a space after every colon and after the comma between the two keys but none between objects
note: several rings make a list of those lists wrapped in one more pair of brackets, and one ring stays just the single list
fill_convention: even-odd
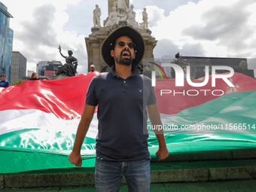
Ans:
[{"label": "bright red flag stripe with shiny folds, left of the man", "polygon": [[0,94],[0,111],[38,109],[62,119],[75,119],[84,110],[84,100],[91,79],[97,73],[76,75],[51,81],[25,81]]}]

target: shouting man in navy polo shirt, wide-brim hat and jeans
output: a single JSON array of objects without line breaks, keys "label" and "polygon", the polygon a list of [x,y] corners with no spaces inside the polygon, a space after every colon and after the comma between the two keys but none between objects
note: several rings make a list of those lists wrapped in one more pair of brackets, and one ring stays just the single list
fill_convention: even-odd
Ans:
[{"label": "shouting man in navy polo shirt, wide-brim hat and jeans", "polygon": [[[151,124],[160,125],[151,80],[139,75],[145,43],[142,35],[130,26],[111,32],[102,43],[103,60],[111,72],[97,75],[87,90],[84,112],[69,160],[81,167],[81,145],[98,106],[95,183],[97,191],[118,191],[122,176],[130,191],[150,190],[150,154],[148,151],[148,115]],[[169,152],[163,130],[155,131],[159,143],[158,160]]]}]

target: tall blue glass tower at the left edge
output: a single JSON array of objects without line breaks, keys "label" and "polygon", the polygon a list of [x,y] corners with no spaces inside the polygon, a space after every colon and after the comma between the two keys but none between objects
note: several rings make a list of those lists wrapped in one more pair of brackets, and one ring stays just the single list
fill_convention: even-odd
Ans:
[{"label": "tall blue glass tower at the left edge", "polygon": [[11,56],[14,31],[9,28],[9,20],[13,18],[5,5],[0,2],[0,73],[11,81]]}]

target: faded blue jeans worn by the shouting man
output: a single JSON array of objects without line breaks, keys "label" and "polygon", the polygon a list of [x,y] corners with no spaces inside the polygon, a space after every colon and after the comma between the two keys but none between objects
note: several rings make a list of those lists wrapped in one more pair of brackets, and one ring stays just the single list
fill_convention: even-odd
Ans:
[{"label": "faded blue jeans worn by the shouting man", "polygon": [[119,191],[123,175],[129,191],[149,191],[151,184],[150,160],[110,161],[95,163],[95,184],[98,192]]}]

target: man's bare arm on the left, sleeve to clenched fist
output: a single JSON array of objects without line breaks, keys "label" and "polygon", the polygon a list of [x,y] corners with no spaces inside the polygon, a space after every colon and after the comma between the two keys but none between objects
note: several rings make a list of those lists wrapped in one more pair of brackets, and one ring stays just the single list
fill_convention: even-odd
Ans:
[{"label": "man's bare arm on the left, sleeve to clenched fist", "polygon": [[84,111],[81,116],[80,123],[78,124],[77,134],[75,136],[75,143],[72,152],[69,154],[69,161],[75,166],[79,166],[81,168],[82,165],[82,157],[81,157],[81,146],[84,142],[84,137],[89,130],[90,122],[93,119],[93,114],[95,111],[95,106],[92,105],[84,105]]}]

